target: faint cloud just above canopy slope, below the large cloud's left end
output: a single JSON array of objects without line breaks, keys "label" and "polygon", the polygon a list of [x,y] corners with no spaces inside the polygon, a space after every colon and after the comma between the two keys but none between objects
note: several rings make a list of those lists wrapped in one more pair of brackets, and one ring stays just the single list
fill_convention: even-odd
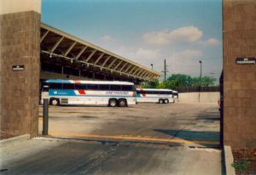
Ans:
[{"label": "faint cloud just above canopy slope, below the large cloud's left end", "polygon": [[150,50],[138,48],[136,53],[131,53],[131,57],[136,59],[157,59],[161,56],[160,49]]}]

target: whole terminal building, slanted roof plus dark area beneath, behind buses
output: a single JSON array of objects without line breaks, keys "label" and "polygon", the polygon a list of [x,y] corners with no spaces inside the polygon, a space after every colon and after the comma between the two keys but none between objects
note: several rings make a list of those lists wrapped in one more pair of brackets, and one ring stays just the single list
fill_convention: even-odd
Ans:
[{"label": "whole terminal building, slanted roof plus dark area beneath, behind buses", "polygon": [[40,24],[40,80],[97,80],[150,82],[160,73],[73,37],[44,23]]}]

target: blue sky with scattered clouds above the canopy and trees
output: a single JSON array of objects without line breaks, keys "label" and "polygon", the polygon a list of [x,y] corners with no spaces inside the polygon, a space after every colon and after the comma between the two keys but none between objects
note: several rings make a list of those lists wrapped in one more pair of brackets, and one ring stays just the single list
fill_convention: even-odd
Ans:
[{"label": "blue sky with scattered clouds above the canopy and trees", "polygon": [[42,0],[41,21],[166,76],[223,69],[222,0]]}]

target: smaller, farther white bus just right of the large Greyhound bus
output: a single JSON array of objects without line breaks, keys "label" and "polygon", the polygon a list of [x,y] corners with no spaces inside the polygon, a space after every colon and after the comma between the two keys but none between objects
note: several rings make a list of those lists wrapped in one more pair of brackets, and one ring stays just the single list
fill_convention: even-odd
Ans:
[{"label": "smaller, farther white bus just right of the large Greyhound bus", "polygon": [[170,89],[137,88],[136,91],[137,102],[159,102],[160,104],[174,102]]}]

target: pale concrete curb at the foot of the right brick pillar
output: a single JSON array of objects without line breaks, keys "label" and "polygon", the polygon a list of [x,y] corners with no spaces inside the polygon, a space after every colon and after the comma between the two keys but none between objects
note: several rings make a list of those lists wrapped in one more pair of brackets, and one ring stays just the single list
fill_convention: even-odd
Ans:
[{"label": "pale concrete curb at the foot of the right brick pillar", "polygon": [[236,175],[235,167],[231,164],[234,163],[234,157],[230,146],[224,146],[224,161],[227,175]]}]

